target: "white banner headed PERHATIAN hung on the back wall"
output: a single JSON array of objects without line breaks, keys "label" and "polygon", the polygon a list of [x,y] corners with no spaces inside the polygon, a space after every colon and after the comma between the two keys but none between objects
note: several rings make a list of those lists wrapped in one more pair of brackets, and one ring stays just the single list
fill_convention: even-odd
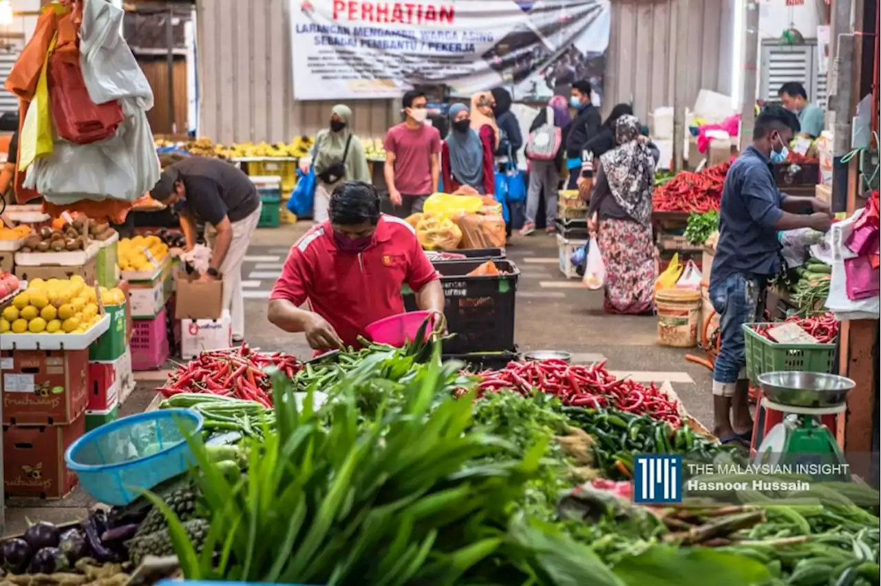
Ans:
[{"label": "white banner headed PERHATIAN hung on the back wall", "polygon": [[609,0],[292,0],[295,99],[454,95],[543,100],[589,79],[602,99]]}]

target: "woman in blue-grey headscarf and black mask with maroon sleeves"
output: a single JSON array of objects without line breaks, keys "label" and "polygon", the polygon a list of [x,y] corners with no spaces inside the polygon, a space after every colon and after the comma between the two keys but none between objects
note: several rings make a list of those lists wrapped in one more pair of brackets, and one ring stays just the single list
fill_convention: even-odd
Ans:
[{"label": "woman in blue-grey headscarf and black mask with maroon sleeves", "polygon": [[495,191],[492,145],[482,141],[471,128],[470,110],[464,104],[449,108],[450,130],[441,148],[441,173],[444,191],[455,193],[463,186],[474,187],[478,194]]}]

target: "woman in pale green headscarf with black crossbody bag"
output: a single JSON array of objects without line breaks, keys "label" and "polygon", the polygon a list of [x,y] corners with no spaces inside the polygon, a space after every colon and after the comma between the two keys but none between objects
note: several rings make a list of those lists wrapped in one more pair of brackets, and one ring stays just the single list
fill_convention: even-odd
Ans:
[{"label": "woman in pale green headscarf with black crossbody bag", "polygon": [[351,124],[349,106],[333,106],[329,128],[318,131],[309,157],[300,159],[302,172],[308,172],[309,166],[315,167],[315,223],[328,219],[330,193],[337,184],[341,181],[369,182],[371,179],[364,146],[352,132]]}]

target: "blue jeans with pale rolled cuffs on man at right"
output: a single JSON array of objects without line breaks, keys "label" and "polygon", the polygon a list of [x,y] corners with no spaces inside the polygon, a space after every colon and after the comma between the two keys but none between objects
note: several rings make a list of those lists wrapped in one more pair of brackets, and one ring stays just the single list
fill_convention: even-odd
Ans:
[{"label": "blue jeans with pale rolled cuffs on man at right", "polygon": [[766,286],[765,277],[734,273],[709,290],[710,303],[719,314],[719,335],[722,338],[722,348],[713,370],[715,382],[736,383],[745,378],[743,325],[762,319]]}]

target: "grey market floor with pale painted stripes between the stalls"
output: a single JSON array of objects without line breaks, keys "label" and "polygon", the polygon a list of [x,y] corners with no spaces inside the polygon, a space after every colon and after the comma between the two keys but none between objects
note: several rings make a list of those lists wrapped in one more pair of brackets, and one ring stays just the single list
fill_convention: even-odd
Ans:
[{"label": "grey market floor with pale painted stripes between the stalls", "polygon": [[[280,332],[266,320],[266,300],[281,272],[291,245],[307,228],[305,223],[277,230],[258,230],[248,249],[242,278],[246,295],[248,342],[264,350],[281,350],[297,356],[311,354],[301,334]],[[670,381],[686,409],[705,424],[712,403],[709,370],[685,362],[686,351],[656,345],[653,317],[614,316],[603,312],[603,294],[581,282],[566,281],[559,272],[557,240],[537,233],[514,238],[507,256],[521,269],[517,289],[515,342],[521,351],[566,349],[576,362],[603,358],[607,368],[640,382]],[[164,372],[138,373],[135,392],[122,414],[139,413],[153,398]],[[12,499],[6,502],[3,533],[23,531],[26,519],[63,523],[85,516],[93,504],[82,491],[57,501]]]}]

